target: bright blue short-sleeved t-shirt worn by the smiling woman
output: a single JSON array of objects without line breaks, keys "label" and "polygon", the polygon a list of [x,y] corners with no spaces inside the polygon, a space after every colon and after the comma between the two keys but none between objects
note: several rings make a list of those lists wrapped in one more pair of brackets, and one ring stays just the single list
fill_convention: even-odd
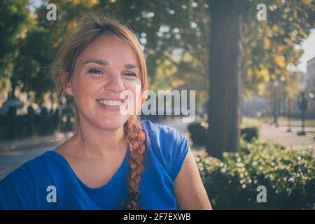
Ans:
[{"label": "bright blue short-sleeved t-shirt worn by the smiling woman", "polygon": [[[145,169],[141,174],[139,206],[179,209],[174,179],[188,153],[188,140],[172,127],[141,121],[148,131]],[[46,151],[15,169],[0,182],[0,209],[123,209],[128,193],[129,151],[112,179],[89,188],[66,159]]]}]

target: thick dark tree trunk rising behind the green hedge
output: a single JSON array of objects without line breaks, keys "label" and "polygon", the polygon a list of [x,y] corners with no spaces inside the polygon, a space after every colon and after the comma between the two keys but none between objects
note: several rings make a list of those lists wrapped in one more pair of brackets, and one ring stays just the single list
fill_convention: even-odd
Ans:
[{"label": "thick dark tree trunk rising behind the green hedge", "polygon": [[239,150],[241,121],[242,4],[211,1],[209,57],[209,155]]}]

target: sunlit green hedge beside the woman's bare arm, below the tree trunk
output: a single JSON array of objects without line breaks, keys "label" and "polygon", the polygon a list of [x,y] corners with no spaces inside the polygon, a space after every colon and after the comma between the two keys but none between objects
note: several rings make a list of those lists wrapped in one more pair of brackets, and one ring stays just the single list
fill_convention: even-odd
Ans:
[{"label": "sunlit green hedge beside the woman's bare arm, below the tree trunk", "polygon": [[[312,151],[288,151],[271,144],[247,144],[223,160],[197,157],[202,181],[214,209],[314,209]],[[258,203],[265,186],[267,202]]]}]

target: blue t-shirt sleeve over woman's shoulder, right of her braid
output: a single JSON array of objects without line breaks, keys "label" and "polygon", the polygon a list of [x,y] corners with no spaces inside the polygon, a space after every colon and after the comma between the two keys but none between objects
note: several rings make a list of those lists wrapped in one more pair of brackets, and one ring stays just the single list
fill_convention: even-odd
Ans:
[{"label": "blue t-shirt sleeve over woman's shoulder, right of her braid", "polygon": [[189,150],[188,139],[174,127],[141,121],[150,138],[150,148],[174,180],[179,173]]}]

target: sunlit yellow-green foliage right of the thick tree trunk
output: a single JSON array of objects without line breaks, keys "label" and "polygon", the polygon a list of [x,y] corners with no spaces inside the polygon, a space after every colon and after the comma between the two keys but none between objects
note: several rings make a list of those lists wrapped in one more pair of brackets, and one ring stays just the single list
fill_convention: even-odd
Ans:
[{"label": "sunlit yellow-green foliage right of the thick tree trunk", "polygon": [[[265,3],[267,20],[250,20],[257,10],[246,14],[244,82],[246,95],[265,91],[265,83],[278,81],[288,92],[294,92],[299,74],[290,71],[297,66],[303,50],[297,48],[315,26],[314,1],[251,1],[247,6]],[[255,9],[250,7],[251,9]],[[296,85],[295,85],[296,88]]]}]

